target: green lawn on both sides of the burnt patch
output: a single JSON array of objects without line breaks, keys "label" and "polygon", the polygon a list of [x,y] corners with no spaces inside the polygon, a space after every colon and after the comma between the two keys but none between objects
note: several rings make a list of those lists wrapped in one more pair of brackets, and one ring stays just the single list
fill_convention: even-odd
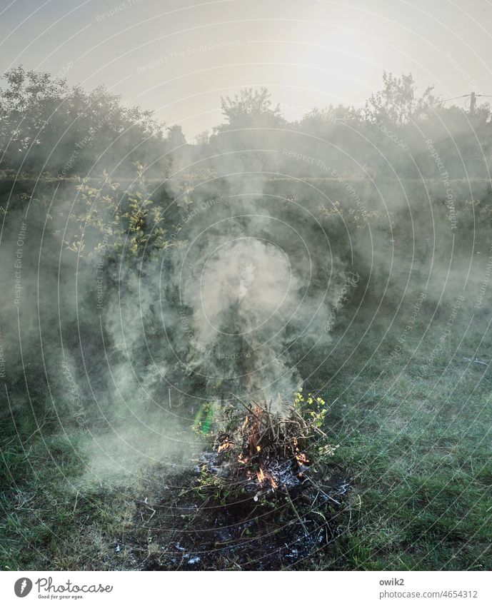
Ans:
[{"label": "green lawn on both sides of the burnt patch", "polygon": [[[308,386],[323,388],[331,402],[326,428],[340,444],[333,465],[353,489],[337,518],[338,537],[302,567],[490,570],[490,375],[461,355],[428,365],[424,347],[385,365],[387,351],[374,349],[361,343],[354,353],[346,345],[352,355],[343,373],[328,360],[328,385],[318,378]],[[143,567],[145,558],[128,545],[139,532],[137,503],[151,490],[149,478],[86,483],[77,430],[62,436],[53,424],[29,438],[32,432],[25,418],[21,428],[9,418],[1,425],[2,570]],[[161,480],[152,480],[155,490]],[[149,556],[156,549],[150,541]]]}]

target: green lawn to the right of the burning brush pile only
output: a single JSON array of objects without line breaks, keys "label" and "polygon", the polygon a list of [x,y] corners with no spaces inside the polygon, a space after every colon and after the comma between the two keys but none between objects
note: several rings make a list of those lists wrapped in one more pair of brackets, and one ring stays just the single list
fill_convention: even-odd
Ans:
[{"label": "green lawn to the right of the burning brush pile only", "polygon": [[490,570],[490,378],[473,365],[463,374],[458,357],[425,378],[418,358],[376,368],[333,385],[335,462],[353,474],[356,523],[328,567]]}]

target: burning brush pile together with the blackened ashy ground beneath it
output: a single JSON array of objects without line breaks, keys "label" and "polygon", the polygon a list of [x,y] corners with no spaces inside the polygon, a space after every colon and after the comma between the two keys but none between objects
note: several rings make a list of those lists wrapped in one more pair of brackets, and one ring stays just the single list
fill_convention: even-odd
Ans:
[{"label": "burning brush pile together with the blackened ashy ground beneath it", "polygon": [[195,468],[139,501],[129,536],[145,570],[302,570],[356,523],[324,401],[301,390],[293,405],[235,400],[196,420]]}]

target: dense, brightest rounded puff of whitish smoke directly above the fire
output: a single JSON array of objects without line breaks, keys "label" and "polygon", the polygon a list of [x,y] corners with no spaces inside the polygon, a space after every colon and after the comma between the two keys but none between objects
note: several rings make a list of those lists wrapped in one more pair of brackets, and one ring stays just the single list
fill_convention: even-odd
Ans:
[{"label": "dense, brightest rounded puff of whitish smoke directly above the fire", "polygon": [[207,241],[201,258],[182,280],[182,301],[192,310],[197,343],[215,358],[201,358],[202,372],[212,375],[222,366],[219,380],[235,378],[246,399],[291,395],[301,380],[281,355],[301,301],[301,278],[288,257],[268,241],[222,236]]}]

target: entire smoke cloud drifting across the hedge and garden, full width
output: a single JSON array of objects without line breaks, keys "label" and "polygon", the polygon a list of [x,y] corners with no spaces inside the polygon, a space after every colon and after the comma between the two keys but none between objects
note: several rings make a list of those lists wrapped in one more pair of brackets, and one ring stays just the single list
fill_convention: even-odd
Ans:
[{"label": "entire smoke cloud drifting across the hedge and garden, full width", "polygon": [[[238,396],[281,407],[313,378],[323,390],[338,353],[350,357],[365,335],[367,357],[386,352],[385,372],[412,355],[416,335],[432,335],[431,364],[446,358],[471,306],[486,317],[488,181],[453,178],[463,171],[442,133],[431,148],[428,133],[415,143],[410,127],[398,131],[418,152],[405,163],[386,131],[373,133],[375,151],[353,126],[329,123],[339,146],[314,141],[308,130],[321,135],[323,123],[304,126],[159,149],[172,170],[157,181],[141,168],[121,185],[4,188],[5,410],[76,433],[88,477],[136,475],[186,465],[204,405]],[[459,341],[468,357],[473,334]]]}]

